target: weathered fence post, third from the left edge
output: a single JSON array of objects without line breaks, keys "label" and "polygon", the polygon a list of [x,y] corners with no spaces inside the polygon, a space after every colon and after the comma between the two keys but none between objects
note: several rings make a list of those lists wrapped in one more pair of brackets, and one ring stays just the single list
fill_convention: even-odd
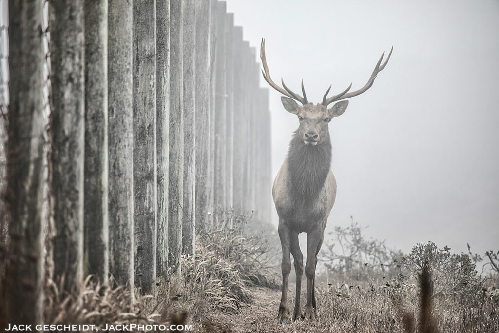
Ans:
[{"label": "weathered fence post, third from the left edge", "polygon": [[84,248],[87,274],[108,281],[107,0],[85,0]]}]

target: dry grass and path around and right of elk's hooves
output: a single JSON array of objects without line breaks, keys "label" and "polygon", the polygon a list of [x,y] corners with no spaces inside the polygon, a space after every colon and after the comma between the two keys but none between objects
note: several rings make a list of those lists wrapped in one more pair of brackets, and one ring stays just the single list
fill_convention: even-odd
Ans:
[{"label": "dry grass and path around and right of elk's hooves", "polygon": [[[204,332],[499,332],[497,287],[469,288],[464,275],[458,293],[436,293],[434,286],[440,289],[442,283],[439,269],[424,263],[415,271],[413,283],[405,284],[397,279],[387,281],[380,274],[363,281],[345,279],[343,274],[329,276],[333,283],[317,281],[317,319],[285,325],[276,320],[280,292],[252,289],[254,304],[242,309],[239,316],[211,313],[203,323]],[[433,272],[439,277],[436,285]],[[304,289],[302,286],[302,310]],[[294,286],[289,286],[288,295],[292,311]]]}]

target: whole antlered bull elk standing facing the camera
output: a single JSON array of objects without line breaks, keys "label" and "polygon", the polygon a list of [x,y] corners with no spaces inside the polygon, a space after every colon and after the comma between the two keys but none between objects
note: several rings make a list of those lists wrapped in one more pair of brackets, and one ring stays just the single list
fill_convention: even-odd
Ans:
[{"label": "whole antlered bull elk standing facing the camera", "polygon": [[[287,283],[291,272],[290,254],[293,255],[296,272],[296,298],[293,320],[299,317],[312,319],[315,317],[315,268],[317,254],[324,239],[324,228],[327,218],[336,198],[336,180],[330,169],[331,139],[329,137],[329,122],[332,118],[345,112],[348,101],[369,89],[378,73],[385,68],[393,47],[383,64],[384,52],[378,60],[367,83],[356,91],[349,92],[352,84],[337,95],[327,97],[331,86],[327,89],[322,102],[310,103],[305,95],[303,80],[301,91],[303,96],[293,92],[284,84],[275,84],[270,78],[265,59],[265,40],[260,45],[260,58],[263,65],[263,78],[279,91],[282,105],[286,111],[298,116],[299,127],[289,144],[287,156],[275,177],[272,187],[272,197],[277,215],[279,216],[279,238],[282,246],[282,294],[277,315],[278,323],[288,321]],[[301,105],[295,102],[298,101]],[[340,101],[342,100],[342,101]],[[328,105],[339,101],[332,107]],[[303,255],[298,244],[298,234],[307,234],[307,258],[305,277],[307,279],[307,300],[302,316],[300,309],[301,277],[303,275]]]}]

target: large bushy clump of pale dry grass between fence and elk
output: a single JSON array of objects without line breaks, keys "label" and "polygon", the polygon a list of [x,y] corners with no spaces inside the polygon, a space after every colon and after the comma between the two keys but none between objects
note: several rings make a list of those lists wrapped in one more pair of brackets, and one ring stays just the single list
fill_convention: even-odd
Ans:
[{"label": "large bushy clump of pale dry grass between fence and elk", "polygon": [[187,311],[191,323],[206,322],[214,312],[237,315],[253,301],[250,287],[279,287],[276,251],[266,237],[248,232],[250,222],[250,215],[217,211],[198,235],[195,257],[183,257],[181,278],[163,284],[174,294],[170,312]]}]

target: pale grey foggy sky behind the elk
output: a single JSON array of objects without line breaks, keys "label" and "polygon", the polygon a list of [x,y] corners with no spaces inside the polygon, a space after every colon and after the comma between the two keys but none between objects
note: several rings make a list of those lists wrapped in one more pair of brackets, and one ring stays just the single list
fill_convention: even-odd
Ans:
[{"label": "pale grey foggy sky behind the elk", "polygon": [[[499,1],[228,0],[227,8],[257,54],[265,37],[274,81],[300,91],[303,78],[314,103],[331,83],[331,94],[362,87],[394,46],[373,87],[329,124],[338,190],[326,230],[353,215],[366,236],[403,251],[428,240],[456,252],[466,243],[499,249]],[[273,177],[298,127],[280,96],[270,91]]]}]

